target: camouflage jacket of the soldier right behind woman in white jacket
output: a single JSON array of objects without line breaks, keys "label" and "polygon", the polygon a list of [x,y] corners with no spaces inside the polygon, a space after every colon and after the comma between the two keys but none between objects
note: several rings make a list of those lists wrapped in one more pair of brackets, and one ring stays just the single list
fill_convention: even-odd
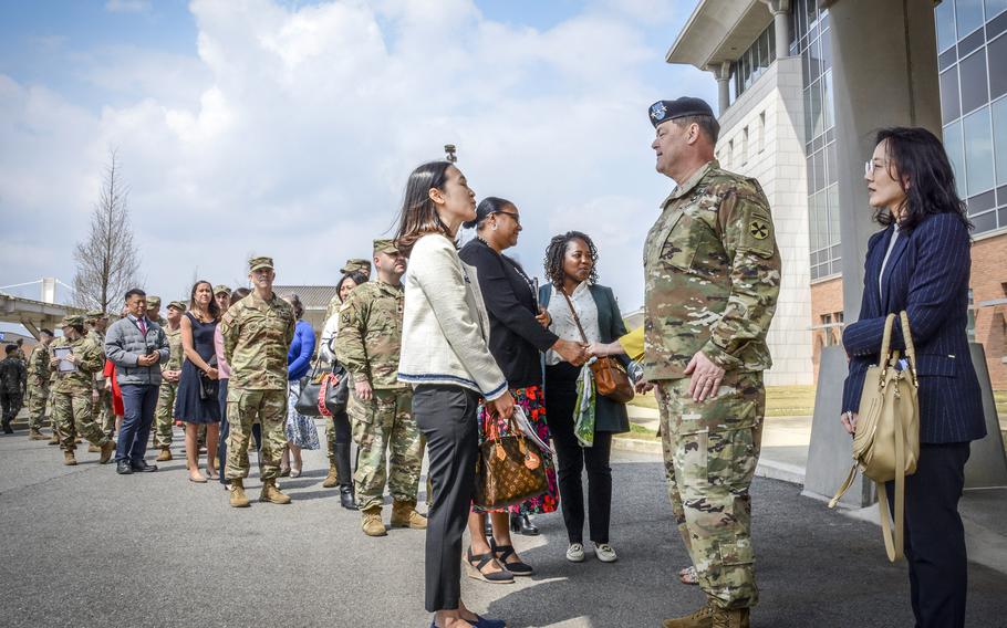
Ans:
[{"label": "camouflage jacket of the soldier right behind woman in white jacket", "polygon": [[408,387],[398,381],[404,303],[403,286],[368,281],[340,307],[335,357],[354,381],[368,381],[375,389]]}]

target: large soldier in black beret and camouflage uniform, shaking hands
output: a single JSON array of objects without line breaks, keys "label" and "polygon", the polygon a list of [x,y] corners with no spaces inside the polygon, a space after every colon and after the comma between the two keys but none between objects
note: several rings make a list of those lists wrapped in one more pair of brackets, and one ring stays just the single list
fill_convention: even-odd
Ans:
[{"label": "large soldier in black beret and camouflage uniform, shaking hands", "polygon": [[678,184],[644,251],[644,374],[656,385],[668,495],[707,605],[666,628],[747,627],[758,601],[749,485],[771,360],[780,254],[758,181],[720,169],[698,98],[651,106],[657,170]]}]

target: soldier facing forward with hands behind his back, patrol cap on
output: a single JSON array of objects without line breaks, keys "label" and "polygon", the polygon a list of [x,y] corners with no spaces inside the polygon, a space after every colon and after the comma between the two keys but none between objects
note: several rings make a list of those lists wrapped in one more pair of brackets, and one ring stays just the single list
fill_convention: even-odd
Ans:
[{"label": "soldier facing forward with hands behind his back, patrol cap on", "polygon": [[262,493],[260,501],[288,504],[290,498],[277,488],[280,458],[287,447],[287,349],[297,323],[293,308],[272,291],[276,279],[271,258],[248,261],[255,290],[238,301],[220,321],[224,355],[231,376],[227,390],[227,441],[225,474],[231,481],[230,504],[249,505],[245,495],[248,477],[248,443],[251,426],[262,426]]}]

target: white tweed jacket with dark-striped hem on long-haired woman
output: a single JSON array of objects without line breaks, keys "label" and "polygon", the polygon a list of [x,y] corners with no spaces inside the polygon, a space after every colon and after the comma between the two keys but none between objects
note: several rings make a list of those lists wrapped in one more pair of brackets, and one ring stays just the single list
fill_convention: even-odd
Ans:
[{"label": "white tweed jacket with dark-striped hem on long-haired woman", "polygon": [[454,384],[496,399],[507,393],[507,379],[488,342],[489,315],[476,269],[445,236],[424,236],[413,247],[405,278],[398,380]]}]

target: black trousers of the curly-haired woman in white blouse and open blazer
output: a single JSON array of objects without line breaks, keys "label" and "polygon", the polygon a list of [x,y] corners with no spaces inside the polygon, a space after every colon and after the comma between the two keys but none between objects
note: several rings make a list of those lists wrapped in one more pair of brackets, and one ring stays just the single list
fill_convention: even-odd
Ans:
[{"label": "black trousers of the curly-haired woman in white blouse and open blazer", "polygon": [[[546,367],[546,419],[556,448],[560,505],[570,543],[583,543],[584,489],[588,469],[588,528],[593,543],[609,542],[612,514],[612,433],[594,432],[594,446],[581,447],[573,435],[573,407],[577,405],[577,376],[571,369]],[[580,369],[574,369],[579,371]]]}]

